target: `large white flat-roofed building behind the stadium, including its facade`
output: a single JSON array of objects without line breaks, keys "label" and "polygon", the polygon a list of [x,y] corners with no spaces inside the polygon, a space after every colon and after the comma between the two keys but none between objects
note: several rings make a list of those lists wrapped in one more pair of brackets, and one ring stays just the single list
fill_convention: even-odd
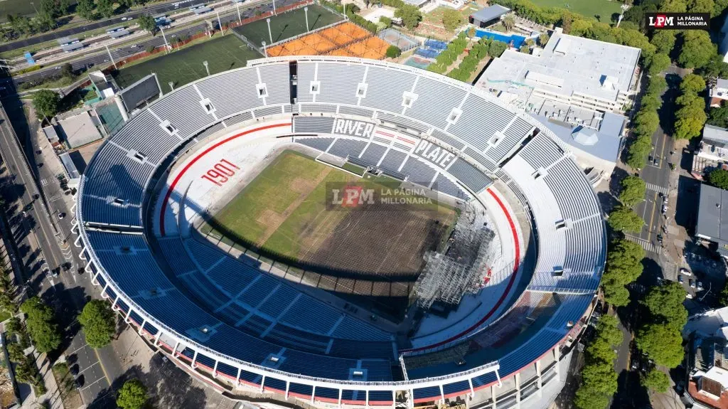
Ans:
[{"label": "large white flat-roofed building behind the stadium, including its facade", "polygon": [[637,92],[640,52],[635,47],[569,36],[557,28],[537,55],[506,50],[476,85],[518,95],[518,103],[529,112],[555,105],[558,110],[550,112],[550,117],[569,108],[622,113]]}]

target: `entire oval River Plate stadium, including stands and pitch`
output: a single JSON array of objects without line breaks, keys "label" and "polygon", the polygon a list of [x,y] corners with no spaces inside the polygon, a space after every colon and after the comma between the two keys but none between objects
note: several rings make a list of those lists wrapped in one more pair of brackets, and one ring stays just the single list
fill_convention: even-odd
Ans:
[{"label": "entire oval River Plate stadium, including stands and pitch", "polygon": [[164,95],[76,197],[113,308],[269,405],[545,407],[605,262],[596,194],[547,128],[355,57],[252,60]]}]

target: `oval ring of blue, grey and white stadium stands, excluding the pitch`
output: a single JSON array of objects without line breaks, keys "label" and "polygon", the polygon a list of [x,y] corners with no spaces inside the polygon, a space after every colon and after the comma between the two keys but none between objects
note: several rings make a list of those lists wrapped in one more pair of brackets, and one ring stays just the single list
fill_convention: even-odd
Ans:
[{"label": "oval ring of blue, grey and white stadium stands, excluding the pitch", "polygon": [[[482,212],[498,251],[482,287],[403,330],[194,229],[283,148]],[[596,194],[536,119],[352,57],[253,60],[165,94],[104,143],[76,200],[92,282],[140,335],[218,389],[289,405],[545,408],[606,253]]]}]

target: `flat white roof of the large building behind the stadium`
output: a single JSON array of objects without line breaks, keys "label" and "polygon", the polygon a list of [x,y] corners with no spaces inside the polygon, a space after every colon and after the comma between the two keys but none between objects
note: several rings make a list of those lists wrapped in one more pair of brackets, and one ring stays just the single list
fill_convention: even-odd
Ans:
[{"label": "flat white roof of the large building behind the stadium", "polygon": [[640,49],[553,33],[539,55],[506,50],[479,82],[515,82],[561,95],[616,100],[628,92]]}]

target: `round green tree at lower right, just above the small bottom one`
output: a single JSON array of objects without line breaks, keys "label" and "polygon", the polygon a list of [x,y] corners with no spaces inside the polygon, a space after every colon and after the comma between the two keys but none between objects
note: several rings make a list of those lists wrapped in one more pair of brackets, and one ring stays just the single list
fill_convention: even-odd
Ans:
[{"label": "round green tree at lower right, just above the small bottom one", "polygon": [[682,336],[670,325],[648,324],[638,331],[636,342],[657,365],[675,368],[683,360]]}]

